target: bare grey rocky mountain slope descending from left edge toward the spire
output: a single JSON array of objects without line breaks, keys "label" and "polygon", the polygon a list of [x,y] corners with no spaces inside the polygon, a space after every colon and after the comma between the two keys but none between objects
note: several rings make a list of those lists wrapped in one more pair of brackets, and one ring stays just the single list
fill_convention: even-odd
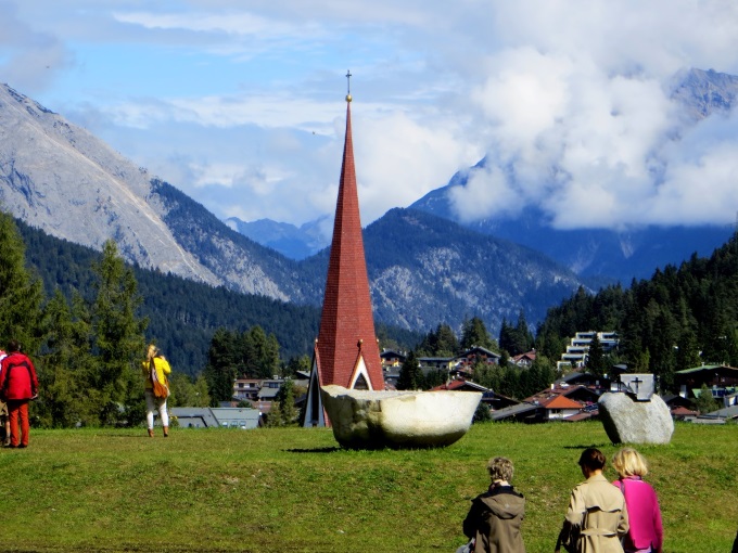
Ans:
[{"label": "bare grey rocky mountain slope descending from left edge toward the spire", "polygon": [[[280,300],[318,301],[319,279],[8,86],[0,86],[0,202],[33,227],[126,260]],[[314,285],[315,283],[315,285]]]}]

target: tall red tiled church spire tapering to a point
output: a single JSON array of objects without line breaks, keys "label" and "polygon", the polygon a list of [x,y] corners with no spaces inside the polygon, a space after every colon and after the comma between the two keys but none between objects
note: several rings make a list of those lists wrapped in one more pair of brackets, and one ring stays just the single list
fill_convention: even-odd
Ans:
[{"label": "tall red tiled church spire tapering to a point", "polygon": [[[369,278],[364,255],[359,200],[351,129],[351,94],[346,97],[346,140],[326,295],[317,343],[320,384],[354,387],[364,374],[369,387],[384,389],[379,345],[374,334]],[[364,363],[361,363],[361,359]],[[366,366],[366,373],[361,368]]]}]

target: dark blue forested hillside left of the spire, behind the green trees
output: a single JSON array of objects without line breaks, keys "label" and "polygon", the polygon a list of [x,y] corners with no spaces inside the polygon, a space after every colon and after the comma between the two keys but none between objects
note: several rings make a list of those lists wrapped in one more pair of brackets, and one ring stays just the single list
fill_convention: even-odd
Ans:
[{"label": "dark blue forested hillside left of the spire, behind the green trees", "polygon": [[[47,296],[59,287],[66,297],[78,291],[93,294],[91,266],[101,254],[16,224],[26,244],[26,258],[41,280]],[[155,340],[177,371],[195,375],[205,369],[207,350],[217,329],[245,332],[254,325],[273,334],[280,358],[310,356],[318,335],[320,309],[277,301],[265,296],[239,294],[171,274],[133,267],[143,297],[140,314],[149,319],[147,338]],[[420,335],[380,325],[378,336],[391,346],[412,347]]]}]

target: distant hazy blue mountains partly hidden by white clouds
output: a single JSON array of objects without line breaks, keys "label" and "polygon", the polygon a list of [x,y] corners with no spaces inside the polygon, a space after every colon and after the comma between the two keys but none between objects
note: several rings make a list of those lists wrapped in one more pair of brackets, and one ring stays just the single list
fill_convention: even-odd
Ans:
[{"label": "distant hazy blue mountains partly hidden by white clouds", "polygon": [[[711,114],[727,112],[738,98],[738,77],[714,70],[690,69],[675,76],[672,98],[684,114],[697,121]],[[443,187],[429,192],[409,207],[455,220],[449,201],[453,189],[466,187],[475,171],[484,170],[486,159],[454,175]],[[516,218],[489,218],[465,223],[466,228],[536,249],[569,268],[590,286],[632,279],[648,279],[657,268],[678,265],[692,253],[707,256],[724,244],[734,226],[645,226],[627,231],[609,229],[558,230],[546,224],[536,208]],[[231,220],[232,228],[260,244],[294,259],[302,259],[325,247],[316,240],[316,224],[294,226],[269,220]],[[279,224],[279,227],[277,227]],[[309,229],[309,233],[303,229]]]}]

